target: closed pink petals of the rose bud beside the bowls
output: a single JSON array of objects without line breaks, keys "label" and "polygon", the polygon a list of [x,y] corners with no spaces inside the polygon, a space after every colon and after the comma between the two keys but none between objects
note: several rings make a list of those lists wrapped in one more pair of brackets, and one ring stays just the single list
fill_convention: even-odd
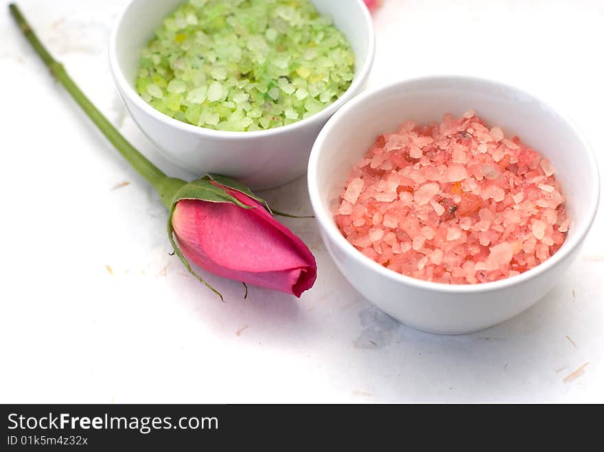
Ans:
[{"label": "closed pink petals of the rose bud beside the bowls", "polygon": [[307,246],[277,222],[262,204],[217,182],[231,202],[180,200],[172,227],[183,254],[208,272],[299,297],[316,280],[316,261]]}]

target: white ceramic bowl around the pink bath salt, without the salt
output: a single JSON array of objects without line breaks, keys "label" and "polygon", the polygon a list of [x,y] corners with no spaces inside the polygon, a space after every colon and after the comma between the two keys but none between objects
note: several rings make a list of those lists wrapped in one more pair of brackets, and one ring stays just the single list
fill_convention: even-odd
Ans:
[{"label": "white ceramic bowl around the pink bath salt, without the salt", "polygon": [[[572,224],[560,250],[518,276],[478,285],[447,285],[388,270],[356,250],[332,212],[352,165],[375,138],[406,120],[441,121],[474,109],[507,136],[518,134],[549,158],[566,194]],[[542,298],[563,277],[596,215],[599,173],[590,145],[559,112],[532,95],[488,80],[430,77],[399,82],[353,99],[330,119],[312,149],[310,199],[325,246],[347,280],[393,318],[434,333],[468,333],[507,320]]]}]

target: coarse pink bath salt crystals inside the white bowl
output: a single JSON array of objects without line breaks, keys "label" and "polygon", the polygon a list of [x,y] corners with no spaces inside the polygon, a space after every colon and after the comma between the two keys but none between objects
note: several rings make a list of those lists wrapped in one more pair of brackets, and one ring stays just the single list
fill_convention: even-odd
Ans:
[{"label": "coarse pink bath salt crystals inside the white bowl", "polygon": [[570,226],[565,201],[550,160],[470,110],[378,136],[334,215],[356,249],[390,270],[477,284],[553,256]]}]

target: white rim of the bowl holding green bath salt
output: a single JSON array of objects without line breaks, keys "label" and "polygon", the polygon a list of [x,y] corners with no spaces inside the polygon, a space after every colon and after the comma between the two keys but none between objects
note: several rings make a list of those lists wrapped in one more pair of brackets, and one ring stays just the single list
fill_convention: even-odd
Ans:
[{"label": "white rim of the bowl holding green bath salt", "polygon": [[111,73],[113,74],[115,84],[117,85],[117,88],[119,89],[121,95],[127,97],[130,102],[137,106],[137,108],[143,110],[143,112],[146,112],[148,115],[150,115],[157,121],[161,121],[172,128],[183,130],[183,132],[189,132],[198,136],[211,137],[214,139],[253,139],[262,138],[264,136],[282,134],[289,132],[290,130],[293,131],[305,128],[306,126],[321,126],[321,124],[325,123],[325,121],[329,119],[329,117],[334,115],[337,110],[339,110],[343,105],[353,99],[356,93],[360,92],[363,84],[367,81],[367,78],[369,77],[371,67],[373,67],[373,60],[375,58],[375,29],[373,28],[373,20],[371,19],[369,9],[364,5],[363,0],[354,0],[354,4],[357,8],[360,9],[361,13],[363,14],[364,26],[367,29],[367,36],[369,38],[369,42],[367,43],[367,56],[364,58],[364,62],[360,67],[360,70],[353,78],[348,89],[344,93],[342,93],[342,95],[340,95],[338,99],[336,99],[336,102],[325,107],[323,110],[316,112],[310,117],[288,124],[287,126],[281,126],[267,130],[253,130],[251,132],[231,132],[227,130],[213,130],[202,128],[200,126],[194,126],[192,124],[185,123],[183,121],[178,121],[178,119],[174,119],[168,115],[165,115],[164,113],[160,112],[159,110],[156,110],[155,108],[147,104],[147,102],[143,101],[142,97],[135,91],[135,89],[132,88],[130,83],[128,83],[128,80],[126,80],[124,71],[122,70],[117,60],[117,34],[119,29],[121,29],[124,17],[134,4],[134,0],[128,2],[128,5],[126,5],[126,7],[119,14],[115,25],[113,26],[113,29],[111,29],[108,57],[109,67],[111,69]]}]

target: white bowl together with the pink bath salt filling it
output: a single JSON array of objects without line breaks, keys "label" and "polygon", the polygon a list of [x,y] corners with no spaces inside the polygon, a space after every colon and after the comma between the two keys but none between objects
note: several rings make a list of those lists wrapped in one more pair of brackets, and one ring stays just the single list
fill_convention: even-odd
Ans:
[{"label": "white bowl together with the pink bath salt filling it", "polygon": [[507,320],[564,278],[599,200],[574,124],[519,88],[432,77],[327,122],[308,187],[336,265],[393,318],[437,333]]}]

